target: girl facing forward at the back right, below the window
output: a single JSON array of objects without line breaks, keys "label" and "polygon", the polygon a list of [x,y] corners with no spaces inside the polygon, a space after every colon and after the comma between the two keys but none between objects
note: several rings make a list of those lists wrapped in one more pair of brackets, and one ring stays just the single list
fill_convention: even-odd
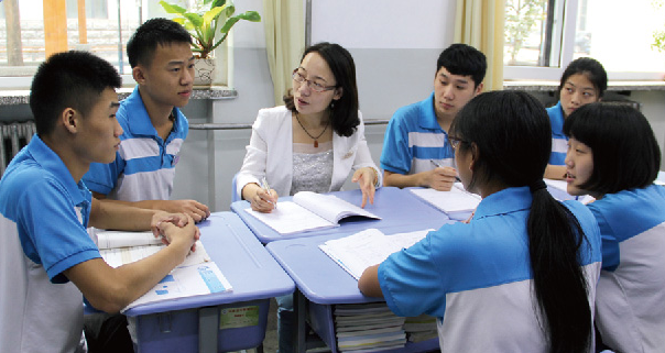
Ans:
[{"label": "girl facing forward at the back right, below the window", "polygon": [[547,108],[552,123],[552,154],[545,177],[560,180],[565,177],[566,143],[564,121],[576,109],[599,101],[608,88],[608,74],[600,63],[590,57],[577,58],[566,67],[559,84],[559,102]]}]

